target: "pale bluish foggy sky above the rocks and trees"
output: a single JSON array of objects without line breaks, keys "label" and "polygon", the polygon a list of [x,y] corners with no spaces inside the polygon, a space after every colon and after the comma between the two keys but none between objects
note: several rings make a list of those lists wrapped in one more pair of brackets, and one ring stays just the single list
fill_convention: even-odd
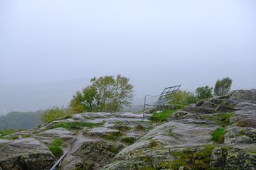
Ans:
[{"label": "pale bluish foggy sky above the rocks and trees", "polygon": [[224,77],[232,89],[255,89],[255,9],[254,0],[0,0],[0,111],[22,100],[67,103],[90,78],[116,74],[131,79],[137,98]]}]

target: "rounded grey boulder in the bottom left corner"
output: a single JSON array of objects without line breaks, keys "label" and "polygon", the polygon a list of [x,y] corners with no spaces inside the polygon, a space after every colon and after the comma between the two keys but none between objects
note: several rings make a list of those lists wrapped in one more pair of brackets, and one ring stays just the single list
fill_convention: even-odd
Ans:
[{"label": "rounded grey boulder in the bottom left corner", "polygon": [[0,147],[0,164],[3,169],[43,170],[54,160],[48,147],[32,137],[14,140]]}]

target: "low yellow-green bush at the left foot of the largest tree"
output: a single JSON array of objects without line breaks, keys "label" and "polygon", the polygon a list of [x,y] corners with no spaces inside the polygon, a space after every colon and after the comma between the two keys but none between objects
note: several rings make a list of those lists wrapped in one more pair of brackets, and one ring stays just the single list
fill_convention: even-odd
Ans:
[{"label": "low yellow-green bush at the left foot of the largest tree", "polygon": [[43,123],[49,123],[56,118],[62,118],[65,115],[70,115],[72,114],[69,109],[65,108],[58,108],[58,107],[53,107],[48,110],[46,110],[42,115],[41,115],[41,120]]}]

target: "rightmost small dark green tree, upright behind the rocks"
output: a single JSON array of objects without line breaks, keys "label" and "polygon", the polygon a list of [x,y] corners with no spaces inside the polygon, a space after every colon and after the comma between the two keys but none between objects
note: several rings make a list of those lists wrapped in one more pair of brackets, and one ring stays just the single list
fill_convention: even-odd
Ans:
[{"label": "rightmost small dark green tree, upright behind the rocks", "polygon": [[232,79],[229,77],[225,77],[221,80],[217,80],[215,87],[214,87],[214,95],[215,96],[222,96],[224,94],[228,94],[232,85]]}]

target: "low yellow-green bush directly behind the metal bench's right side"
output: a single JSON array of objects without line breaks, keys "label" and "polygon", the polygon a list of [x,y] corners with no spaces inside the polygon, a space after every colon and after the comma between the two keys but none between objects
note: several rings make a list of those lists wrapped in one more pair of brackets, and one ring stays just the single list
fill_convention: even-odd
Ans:
[{"label": "low yellow-green bush directly behind the metal bench's right side", "polygon": [[183,106],[196,103],[196,96],[193,94],[193,92],[179,90],[175,95],[175,103]]}]

